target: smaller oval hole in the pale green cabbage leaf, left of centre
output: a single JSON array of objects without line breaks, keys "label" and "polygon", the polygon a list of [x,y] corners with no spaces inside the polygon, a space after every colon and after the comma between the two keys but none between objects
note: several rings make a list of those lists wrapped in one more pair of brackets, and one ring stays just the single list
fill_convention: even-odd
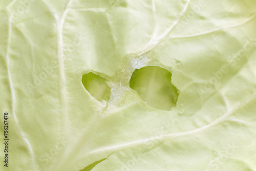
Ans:
[{"label": "smaller oval hole in the pale green cabbage leaf, left of centre", "polygon": [[110,99],[111,89],[106,81],[108,80],[93,73],[88,73],[82,76],[82,84],[84,88],[99,101],[108,101]]}]

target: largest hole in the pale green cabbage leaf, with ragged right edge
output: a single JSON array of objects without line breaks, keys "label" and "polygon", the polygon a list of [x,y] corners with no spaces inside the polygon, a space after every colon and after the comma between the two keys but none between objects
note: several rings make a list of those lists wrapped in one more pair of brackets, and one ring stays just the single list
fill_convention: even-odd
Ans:
[{"label": "largest hole in the pale green cabbage leaf, with ragged right edge", "polygon": [[136,69],[130,79],[130,87],[136,90],[148,105],[170,110],[176,105],[178,90],[172,84],[172,73],[157,66]]}]

